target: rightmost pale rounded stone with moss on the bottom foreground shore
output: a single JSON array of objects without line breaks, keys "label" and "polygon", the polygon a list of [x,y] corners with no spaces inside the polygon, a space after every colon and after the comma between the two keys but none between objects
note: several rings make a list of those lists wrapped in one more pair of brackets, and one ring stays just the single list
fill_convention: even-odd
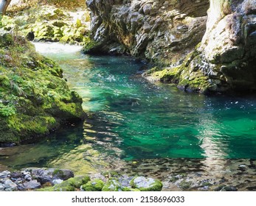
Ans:
[{"label": "rightmost pale rounded stone with moss on the bottom foreground shore", "polygon": [[134,177],[130,182],[132,188],[139,191],[162,191],[162,182],[147,177]]}]

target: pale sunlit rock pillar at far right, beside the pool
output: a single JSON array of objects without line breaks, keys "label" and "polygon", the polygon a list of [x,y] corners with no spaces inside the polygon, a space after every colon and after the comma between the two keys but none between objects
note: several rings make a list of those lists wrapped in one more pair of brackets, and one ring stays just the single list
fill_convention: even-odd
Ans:
[{"label": "pale sunlit rock pillar at far right, beside the pool", "polygon": [[256,1],[210,1],[201,43],[204,74],[214,74],[213,90],[256,89]]}]

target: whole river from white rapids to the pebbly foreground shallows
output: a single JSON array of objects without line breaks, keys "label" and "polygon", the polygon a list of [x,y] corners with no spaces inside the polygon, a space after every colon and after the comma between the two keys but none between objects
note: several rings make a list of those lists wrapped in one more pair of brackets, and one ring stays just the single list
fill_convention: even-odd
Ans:
[{"label": "whole river from white rapids to the pebbly foreground shallows", "polygon": [[163,180],[165,190],[179,190],[172,183],[179,175],[255,190],[255,96],[184,93],[143,79],[144,65],[131,57],[89,56],[59,43],[35,47],[63,68],[88,118],[39,143],[2,149],[1,165],[139,173]]}]

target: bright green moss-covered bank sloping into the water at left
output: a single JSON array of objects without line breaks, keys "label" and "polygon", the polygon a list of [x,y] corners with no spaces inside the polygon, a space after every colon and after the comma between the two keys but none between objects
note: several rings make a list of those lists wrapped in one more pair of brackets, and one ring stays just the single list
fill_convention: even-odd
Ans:
[{"label": "bright green moss-covered bank sloping into the water at left", "polygon": [[80,96],[62,69],[24,38],[0,36],[0,143],[41,137],[84,118]]}]

